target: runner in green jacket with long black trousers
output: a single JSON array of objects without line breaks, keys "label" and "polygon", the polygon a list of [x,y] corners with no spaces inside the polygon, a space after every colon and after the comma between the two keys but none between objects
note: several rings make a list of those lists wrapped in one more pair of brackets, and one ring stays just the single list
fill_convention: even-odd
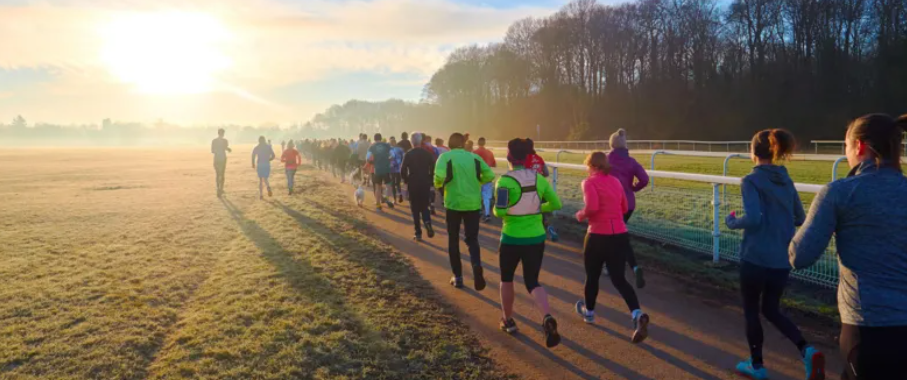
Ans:
[{"label": "runner in green jacket with long black trousers", "polygon": [[447,250],[453,271],[451,285],[463,287],[460,264],[460,225],[466,232],[466,245],[472,262],[475,288],[485,289],[482,256],[479,247],[479,218],[482,209],[482,185],[494,180],[494,172],[482,158],[463,150],[463,135],[450,135],[451,151],[444,153],[435,164],[435,188],[444,188],[444,207],[447,209]]}]

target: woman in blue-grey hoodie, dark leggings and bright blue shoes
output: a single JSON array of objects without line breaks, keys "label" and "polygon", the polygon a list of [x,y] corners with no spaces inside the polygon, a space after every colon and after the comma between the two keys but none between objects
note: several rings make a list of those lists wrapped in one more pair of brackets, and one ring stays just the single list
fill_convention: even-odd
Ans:
[{"label": "woman in blue-grey hoodie, dark leggings and bright blue shoes", "polygon": [[[782,129],[756,133],[752,141],[753,172],[743,178],[744,215],[727,216],[729,229],[743,230],[740,245],[740,291],[746,317],[750,357],[737,372],[752,379],[767,379],[762,357],[762,322],[759,312],[797,345],[806,366],[806,379],[825,378],[825,357],[806,342],[800,329],[781,313],[781,297],[790,277],[787,248],[806,215],[800,194],[784,166],[795,149],[794,136]],[[760,305],[761,304],[761,305]]]}]

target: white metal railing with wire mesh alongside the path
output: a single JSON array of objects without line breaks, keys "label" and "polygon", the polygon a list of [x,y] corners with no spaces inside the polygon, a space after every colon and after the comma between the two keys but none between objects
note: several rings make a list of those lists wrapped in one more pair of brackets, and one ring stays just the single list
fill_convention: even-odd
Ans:
[{"label": "white metal railing with wire mesh alongside the path", "polygon": [[[726,161],[734,158],[727,156]],[[499,159],[506,167],[506,160]],[[586,177],[584,165],[549,163],[554,189],[564,204],[563,213],[573,215],[583,207],[580,183]],[[712,260],[739,262],[742,232],[729,230],[724,217],[742,211],[739,177],[648,171],[659,186],[636,193],[636,209],[628,227],[630,233],[649,240],[711,256]],[[795,184],[801,193],[818,193],[823,186]],[[724,191],[722,191],[724,189]],[[809,207],[808,204],[805,207]],[[816,265],[794,271],[802,281],[835,287],[838,283],[837,252],[832,243]]]}]

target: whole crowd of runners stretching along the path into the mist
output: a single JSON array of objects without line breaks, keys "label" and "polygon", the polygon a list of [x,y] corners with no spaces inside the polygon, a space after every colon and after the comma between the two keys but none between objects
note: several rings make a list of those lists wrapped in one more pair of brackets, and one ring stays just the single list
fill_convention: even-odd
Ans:
[{"label": "whole crowd of runners stretching along the path into the mist", "polygon": [[[768,378],[762,354],[761,314],[797,347],[805,378],[825,378],[824,355],[781,312],[780,302],[791,270],[815,264],[834,236],[840,272],[840,350],[846,362],[842,377],[907,379],[907,366],[901,363],[907,352],[907,178],[901,172],[905,130],[907,115],[895,119],[872,114],[854,120],[845,135],[851,172],[846,179],[823,188],[808,214],[783,166],[795,150],[794,136],[771,129],[753,137],[755,167],[742,180],[743,214],[731,212],[725,221],[728,228],[743,231],[740,289],[750,357],[738,363],[738,373],[752,379]],[[557,321],[539,282],[545,242],[551,235],[545,214],[562,206],[546,179],[547,167],[535,153],[532,140],[513,139],[507,144],[509,171],[495,182],[491,168],[497,163],[485,147],[485,139],[480,138],[478,148],[470,151],[467,148],[475,144],[467,136],[452,134],[448,147],[440,139],[432,145],[430,137],[419,132],[412,136],[404,133],[392,144],[376,134],[374,143],[360,136],[356,142],[306,140],[302,146],[314,162],[331,162],[339,166],[340,173],[355,168],[363,181],[367,180],[367,167],[372,166],[370,177],[379,207],[382,202],[390,203],[383,185],[390,183],[393,187],[395,178],[399,178],[407,191],[395,187],[398,192],[389,192],[394,194],[395,203],[409,200],[416,240],[422,239],[423,229],[429,238],[434,236],[431,204],[437,191],[446,208],[453,272],[450,283],[457,288],[463,287],[461,226],[474,287],[482,291],[486,282],[478,243],[479,223],[489,220],[492,213],[502,219],[500,328],[511,334],[518,330],[513,318],[513,280],[522,263],[524,285],[543,316],[546,345],[557,346]],[[607,270],[633,321],[631,341],[639,343],[648,336],[650,317],[642,311],[636,291],[624,276],[624,266],[629,265],[636,275],[637,288],[645,286],[626,223],[635,210],[634,193],[646,187],[648,176],[630,157],[625,131],[614,133],[610,142],[609,154],[594,152],[585,160],[589,174],[581,186],[584,206],[575,218],[588,224],[583,248],[586,279],[575,311],[586,323],[594,323],[599,278]],[[219,195],[225,150],[229,151],[225,140],[212,142]],[[349,157],[343,160],[342,153],[346,152],[350,152]],[[259,177],[263,174],[262,162],[269,162],[273,156],[262,138],[253,153],[253,163],[258,157]]]}]

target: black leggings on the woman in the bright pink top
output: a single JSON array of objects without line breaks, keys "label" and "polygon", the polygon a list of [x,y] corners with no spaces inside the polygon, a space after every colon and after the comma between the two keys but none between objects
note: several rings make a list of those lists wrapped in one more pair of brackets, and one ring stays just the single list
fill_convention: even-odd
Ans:
[{"label": "black leggings on the woman in the bright pink top", "polygon": [[636,292],[624,277],[624,265],[627,255],[633,251],[630,247],[630,235],[586,234],[583,256],[586,266],[586,309],[595,310],[595,299],[598,297],[598,279],[602,275],[602,265],[611,273],[611,284],[617,288],[627,303],[630,311],[639,309]]}]

